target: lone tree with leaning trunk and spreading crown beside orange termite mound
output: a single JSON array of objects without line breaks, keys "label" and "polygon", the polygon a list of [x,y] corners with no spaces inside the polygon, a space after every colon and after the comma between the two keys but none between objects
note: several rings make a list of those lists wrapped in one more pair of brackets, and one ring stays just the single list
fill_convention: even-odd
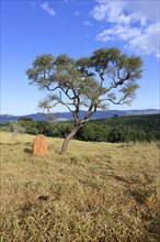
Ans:
[{"label": "lone tree with leaning trunk and spreading crown beside orange termite mound", "polygon": [[[26,70],[31,80],[41,90],[48,91],[39,107],[48,112],[62,105],[72,112],[75,125],[66,136],[61,154],[68,142],[90,120],[98,109],[114,105],[130,103],[135,98],[141,76],[142,62],[138,56],[122,54],[116,47],[100,48],[90,57],[73,59],[66,54],[54,57],[50,54],[38,55],[32,68]],[[80,108],[85,107],[83,119]]]}]

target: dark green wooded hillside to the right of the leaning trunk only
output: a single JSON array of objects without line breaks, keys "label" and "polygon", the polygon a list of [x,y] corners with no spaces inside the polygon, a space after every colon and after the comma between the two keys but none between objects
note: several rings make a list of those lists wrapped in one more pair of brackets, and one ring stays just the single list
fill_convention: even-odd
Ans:
[{"label": "dark green wooded hillside to the right of the leaning trunk only", "polygon": [[[160,140],[160,116],[114,117],[92,120],[77,135],[79,140],[93,141],[99,131],[100,141],[105,142],[151,142]],[[93,129],[94,128],[94,129]],[[99,130],[101,128],[101,131]]]}]

